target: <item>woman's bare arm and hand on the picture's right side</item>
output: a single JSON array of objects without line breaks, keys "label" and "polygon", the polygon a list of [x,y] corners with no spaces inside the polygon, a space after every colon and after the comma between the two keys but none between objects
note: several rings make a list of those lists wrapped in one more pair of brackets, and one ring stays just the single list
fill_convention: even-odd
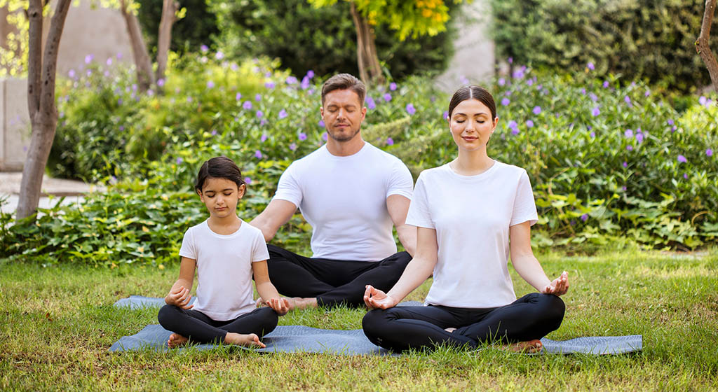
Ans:
[{"label": "woman's bare arm and hand on the picture's right side", "polygon": [[549,280],[546,272],[533,256],[531,250],[531,224],[525,221],[508,229],[510,239],[511,263],[521,277],[529,285],[544,294],[564,295],[569,290],[569,274],[564,271],[561,276]]}]

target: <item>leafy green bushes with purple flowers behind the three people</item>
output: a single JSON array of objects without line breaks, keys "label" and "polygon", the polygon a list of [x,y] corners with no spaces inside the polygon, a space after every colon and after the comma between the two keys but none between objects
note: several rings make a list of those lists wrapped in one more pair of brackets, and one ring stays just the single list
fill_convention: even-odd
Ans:
[{"label": "leafy green bushes with purple flowers behind the three people", "polygon": [[[215,58],[188,57],[181,72],[168,74],[165,95],[140,97],[129,109],[84,109],[91,102],[115,102],[108,94],[116,87],[97,85],[103,80],[92,74],[70,81],[78,88],[60,100],[63,133],[81,124],[92,130],[93,121],[126,123],[124,130],[107,125],[95,134],[143,143],[128,149],[131,143],[80,139],[85,144],[79,158],[101,157],[87,161],[97,165],[88,172],[101,178],[110,162],[119,182],[110,181],[106,194],[88,196],[78,206],[42,211],[37,224],[12,224],[9,214],[0,215],[0,253],[108,265],[176,259],[182,233],[207,216],[192,183],[202,161],[213,156],[233,158],[250,178],[240,216],[250,220],[260,213],[289,163],[324,143],[322,80],[302,83],[261,62],[223,67]],[[637,242],[694,249],[716,243],[713,102],[694,98],[680,114],[641,83],[622,85],[584,72],[534,74],[524,67],[515,76],[490,86],[500,120],[489,154],[528,171],[540,216],[534,245]],[[215,84],[208,87],[208,80]],[[85,83],[90,87],[81,88]],[[194,105],[185,105],[187,97]],[[444,120],[448,102],[449,95],[428,77],[375,86],[366,98],[363,135],[401,158],[416,177],[456,156]],[[76,163],[67,165],[63,170],[70,172]],[[306,251],[309,231],[297,215],[275,242]]]}]

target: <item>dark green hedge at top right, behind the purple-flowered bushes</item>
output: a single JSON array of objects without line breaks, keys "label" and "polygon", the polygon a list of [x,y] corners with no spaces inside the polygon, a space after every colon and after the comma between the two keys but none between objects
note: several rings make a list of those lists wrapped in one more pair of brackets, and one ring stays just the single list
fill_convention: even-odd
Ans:
[{"label": "dark green hedge at top right, behind the purple-flowered bushes", "polygon": [[[710,83],[696,54],[704,1],[493,0],[497,52],[518,64],[661,82],[684,92]],[[714,25],[715,27],[715,25]],[[713,34],[711,46],[718,47]]]}]

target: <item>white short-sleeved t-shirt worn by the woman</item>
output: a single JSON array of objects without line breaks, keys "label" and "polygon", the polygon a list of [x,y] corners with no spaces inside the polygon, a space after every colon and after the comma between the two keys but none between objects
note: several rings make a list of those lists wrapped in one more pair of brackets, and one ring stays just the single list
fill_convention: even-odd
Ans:
[{"label": "white short-sleeved t-shirt worn by the woman", "polygon": [[509,227],[537,219],[523,168],[495,161],[476,176],[454,173],[448,164],[423,171],[406,224],[437,231],[439,254],[426,303],[485,308],[515,301]]}]

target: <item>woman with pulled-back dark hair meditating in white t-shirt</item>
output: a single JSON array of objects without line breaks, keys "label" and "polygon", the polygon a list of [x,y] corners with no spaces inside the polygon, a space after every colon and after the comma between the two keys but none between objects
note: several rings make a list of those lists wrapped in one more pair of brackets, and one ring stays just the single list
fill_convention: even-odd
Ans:
[{"label": "woman with pulled-back dark hair meditating in white t-shirt", "polygon": [[[486,153],[498,117],[490,93],[462,87],[449,103],[449,130],[459,154],[421,173],[406,223],[417,227],[414,259],[388,293],[367,286],[374,309],[364,333],[390,350],[434,345],[475,348],[488,340],[540,350],[542,338],[564,317],[568,274],[551,281],[531,251],[536,205],[522,168]],[[516,300],[508,255],[518,274],[538,292]],[[433,272],[424,307],[394,307]]]}]

